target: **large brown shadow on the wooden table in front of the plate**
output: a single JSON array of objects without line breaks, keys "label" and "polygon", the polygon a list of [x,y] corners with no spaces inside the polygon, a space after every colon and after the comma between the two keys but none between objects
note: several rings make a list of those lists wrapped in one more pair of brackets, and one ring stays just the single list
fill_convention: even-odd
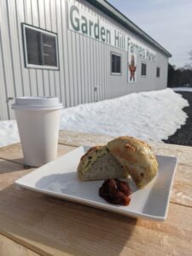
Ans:
[{"label": "large brown shadow on the wooden table in front of the plate", "polygon": [[[11,176],[9,182],[13,183]],[[18,189],[13,184],[0,191],[0,208],[1,232],[15,241],[20,236],[20,244],[42,254],[57,249],[77,256],[119,255],[137,224],[134,218]],[[37,242],[44,247],[39,249]]]}]

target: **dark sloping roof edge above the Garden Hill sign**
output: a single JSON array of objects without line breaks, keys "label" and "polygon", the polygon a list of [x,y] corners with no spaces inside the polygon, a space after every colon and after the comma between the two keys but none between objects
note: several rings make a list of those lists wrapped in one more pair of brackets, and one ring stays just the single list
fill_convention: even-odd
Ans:
[{"label": "dark sloping roof edge above the Garden Hill sign", "polygon": [[103,13],[113,18],[121,24],[125,26],[125,28],[129,29],[131,32],[136,34],[137,36],[143,38],[143,40],[147,41],[149,44],[152,44],[154,47],[163,52],[166,56],[172,57],[172,54],[167,51],[164,47],[162,47],[159,43],[157,43],[153,38],[148,36],[146,32],[135,25],[131,20],[129,20],[125,15],[123,15],[118,9],[113,7],[111,3],[108,3],[106,0],[85,0],[88,3],[95,6],[97,9],[102,10]]}]

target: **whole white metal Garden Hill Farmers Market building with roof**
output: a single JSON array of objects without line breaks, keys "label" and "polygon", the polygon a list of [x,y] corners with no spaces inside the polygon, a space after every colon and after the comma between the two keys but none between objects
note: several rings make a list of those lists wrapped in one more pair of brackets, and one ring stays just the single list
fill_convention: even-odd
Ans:
[{"label": "whole white metal Garden Hill Farmers Market building with roof", "polygon": [[171,54],[103,0],[0,1],[0,119],[17,96],[64,107],[166,88]]}]

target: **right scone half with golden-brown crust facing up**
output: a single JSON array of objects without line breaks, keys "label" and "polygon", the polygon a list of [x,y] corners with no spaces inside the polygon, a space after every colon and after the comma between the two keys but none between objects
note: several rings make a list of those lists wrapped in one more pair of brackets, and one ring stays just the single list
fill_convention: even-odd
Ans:
[{"label": "right scone half with golden-brown crust facing up", "polygon": [[107,147],[130,174],[137,188],[143,188],[156,176],[158,162],[148,143],[134,137],[117,137]]}]

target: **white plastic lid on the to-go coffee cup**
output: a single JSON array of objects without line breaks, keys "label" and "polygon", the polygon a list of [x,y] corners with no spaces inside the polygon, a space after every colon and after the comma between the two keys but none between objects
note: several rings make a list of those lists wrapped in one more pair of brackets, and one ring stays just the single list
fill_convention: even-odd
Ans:
[{"label": "white plastic lid on the to-go coffee cup", "polygon": [[12,104],[11,108],[23,110],[56,110],[63,108],[63,106],[57,97],[26,96],[15,98],[15,103]]}]

